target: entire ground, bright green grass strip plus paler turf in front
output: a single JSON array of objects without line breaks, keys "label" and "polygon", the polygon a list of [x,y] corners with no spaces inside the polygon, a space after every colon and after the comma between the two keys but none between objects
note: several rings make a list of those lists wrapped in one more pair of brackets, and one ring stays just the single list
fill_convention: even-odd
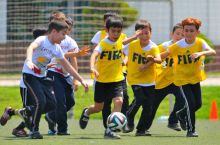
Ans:
[{"label": "entire ground, bright green grass strip plus paler turf in front", "polygon": [[[12,118],[4,127],[0,126],[0,145],[219,145],[220,141],[220,121],[210,122],[209,113],[211,101],[217,100],[218,110],[220,109],[220,91],[219,86],[202,87],[203,106],[197,112],[196,130],[199,138],[186,138],[186,132],[175,132],[166,127],[167,122],[155,119],[151,128],[152,137],[135,137],[134,132],[129,134],[121,134],[121,140],[104,140],[103,126],[100,120],[101,114],[91,116],[88,128],[81,130],[78,125],[78,118],[84,107],[93,103],[93,90],[90,88],[88,93],[84,93],[80,88],[76,93],[76,106],[74,108],[74,119],[69,120],[70,136],[48,136],[47,125],[42,118],[40,131],[44,134],[43,140],[30,140],[27,138],[15,138],[11,135],[11,130],[19,123],[18,117]],[[129,89],[130,100],[133,99],[131,89]],[[21,98],[19,87],[0,87],[0,113],[2,114],[5,106],[14,108],[21,107]],[[136,116],[136,119],[139,117]],[[160,105],[157,117],[169,115],[169,97],[167,97]],[[97,118],[99,118],[97,120]],[[204,120],[205,119],[205,120]],[[137,121],[137,120],[136,120]]]}]

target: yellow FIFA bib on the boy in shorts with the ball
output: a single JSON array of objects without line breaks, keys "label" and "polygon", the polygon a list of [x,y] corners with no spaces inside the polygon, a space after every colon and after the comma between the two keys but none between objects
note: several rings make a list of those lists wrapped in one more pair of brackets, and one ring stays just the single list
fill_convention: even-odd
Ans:
[{"label": "yellow FIFA bib on the boy in shorts with the ball", "polygon": [[103,83],[122,81],[124,79],[122,72],[122,42],[118,40],[114,43],[105,38],[99,43],[98,47],[101,48],[101,52],[95,65],[99,72],[99,77],[96,80]]}]

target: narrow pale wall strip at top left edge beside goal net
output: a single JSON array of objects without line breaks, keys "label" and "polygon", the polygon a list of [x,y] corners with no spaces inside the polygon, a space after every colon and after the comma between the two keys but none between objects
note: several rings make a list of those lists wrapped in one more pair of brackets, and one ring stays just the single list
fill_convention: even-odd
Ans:
[{"label": "narrow pale wall strip at top left edge beside goal net", "polygon": [[7,42],[7,0],[0,0],[0,43]]}]

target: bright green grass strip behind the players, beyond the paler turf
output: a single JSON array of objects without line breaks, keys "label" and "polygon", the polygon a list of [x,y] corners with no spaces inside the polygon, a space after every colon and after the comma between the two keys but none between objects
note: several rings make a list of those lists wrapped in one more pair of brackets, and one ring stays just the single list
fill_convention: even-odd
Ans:
[{"label": "bright green grass strip behind the players, beyond the paler turf", "polygon": [[[197,118],[199,119],[208,119],[209,113],[210,113],[210,107],[212,100],[216,100],[218,104],[218,109],[220,110],[220,87],[219,86],[205,86],[202,87],[202,99],[203,104],[202,108],[199,109],[197,112]],[[133,99],[133,93],[132,90],[129,88],[129,96],[130,96],[130,102]],[[93,89],[90,88],[88,93],[85,93],[83,89],[80,87],[80,89],[76,92],[76,105],[74,108],[74,114],[75,118],[79,118],[81,111],[84,107],[91,105],[93,103]],[[4,111],[5,106],[11,106],[13,108],[20,108],[21,105],[21,97],[19,93],[19,87],[0,87],[0,113]],[[137,116],[139,116],[140,113],[138,113]],[[163,102],[161,103],[158,111],[157,111],[157,117],[165,115],[169,115],[169,97],[166,97]],[[220,116],[220,112],[219,112]],[[92,118],[100,118],[101,115],[95,114]]]}]

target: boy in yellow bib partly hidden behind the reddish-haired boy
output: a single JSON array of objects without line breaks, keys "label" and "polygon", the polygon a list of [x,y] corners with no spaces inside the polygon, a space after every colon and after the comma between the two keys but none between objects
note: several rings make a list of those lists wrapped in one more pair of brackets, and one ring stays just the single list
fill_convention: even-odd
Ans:
[{"label": "boy in yellow bib partly hidden behind the reddish-haired boy", "polygon": [[[176,24],[173,27],[171,33],[172,40],[166,41],[159,45],[160,52],[164,52],[168,49],[168,46],[174,44],[183,38],[183,27],[181,23]],[[161,64],[156,65],[157,76],[156,76],[156,96],[154,99],[153,107],[152,107],[152,118],[151,122],[149,122],[147,129],[152,125],[153,119],[157,112],[157,109],[162,102],[162,100],[168,95],[173,94],[175,96],[175,104],[174,109],[170,114],[168,119],[168,128],[174,129],[176,131],[181,131],[181,128],[178,125],[178,119],[176,117],[176,111],[180,110],[184,105],[184,100],[182,99],[182,95],[177,86],[173,84],[173,58],[167,57],[163,60]],[[185,130],[185,126],[182,127]]]}]

